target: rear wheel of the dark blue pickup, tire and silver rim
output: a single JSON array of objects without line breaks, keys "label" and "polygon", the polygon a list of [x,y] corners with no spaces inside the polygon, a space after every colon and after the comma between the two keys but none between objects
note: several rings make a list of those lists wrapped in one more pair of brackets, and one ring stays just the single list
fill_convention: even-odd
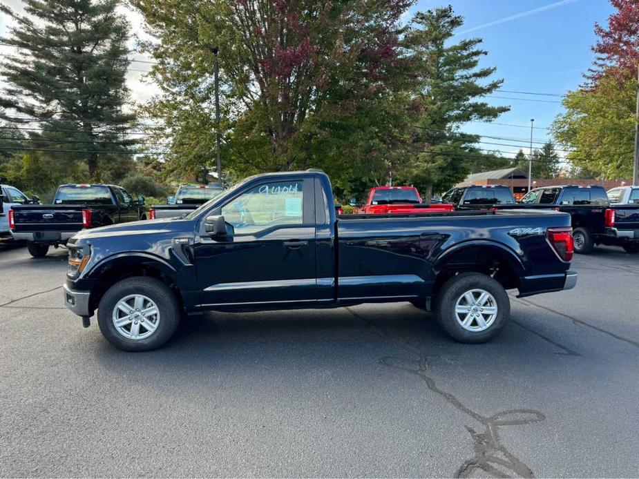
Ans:
[{"label": "rear wheel of the dark blue pickup, tire and silver rim", "polygon": [[481,273],[455,275],[435,301],[442,329],[459,342],[488,342],[502,332],[511,315],[504,286]]}]

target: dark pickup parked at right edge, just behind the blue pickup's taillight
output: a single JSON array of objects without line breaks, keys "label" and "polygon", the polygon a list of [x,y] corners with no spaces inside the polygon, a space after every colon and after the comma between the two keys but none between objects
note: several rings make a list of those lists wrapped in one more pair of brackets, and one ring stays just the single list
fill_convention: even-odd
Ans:
[{"label": "dark pickup parked at right edge, just behind the blue pickup's taillight", "polygon": [[590,253],[597,244],[623,246],[629,252],[636,248],[634,230],[639,229],[639,205],[611,206],[602,186],[535,188],[526,193],[516,207],[550,208],[569,213],[575,253]]}]

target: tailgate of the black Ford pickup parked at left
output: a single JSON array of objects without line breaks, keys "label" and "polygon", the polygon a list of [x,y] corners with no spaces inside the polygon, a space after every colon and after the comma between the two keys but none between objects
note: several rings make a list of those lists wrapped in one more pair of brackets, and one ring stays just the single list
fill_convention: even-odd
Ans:
[{"label": "tailgate of the black Ford pickup parked at left", "polygon": [[29,205],[12,206],[13,231],[79,231],[82,229],[82,206]]}]

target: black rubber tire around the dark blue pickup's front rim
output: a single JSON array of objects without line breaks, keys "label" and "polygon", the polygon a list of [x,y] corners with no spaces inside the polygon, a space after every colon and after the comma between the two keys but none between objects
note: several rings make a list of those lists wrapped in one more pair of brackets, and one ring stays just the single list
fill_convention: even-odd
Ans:
[{"label": "black rubber tire around the dark blue pickup's front rim", "polygon": [[[148,297],[158,306],[160,313],[157,329],[144,339],[125,338],[117,331],[112,320],[116,304],[124,297],[134,294]],[[178,299],[166,284],[152,277],[130,277],[115,283],[104,293],[97,309],[97,324],[99,324],[102,335],[113,346],[123,351],[151,351],[151,349],[163,346],[171,339],[179,322],[180,305]]]}]

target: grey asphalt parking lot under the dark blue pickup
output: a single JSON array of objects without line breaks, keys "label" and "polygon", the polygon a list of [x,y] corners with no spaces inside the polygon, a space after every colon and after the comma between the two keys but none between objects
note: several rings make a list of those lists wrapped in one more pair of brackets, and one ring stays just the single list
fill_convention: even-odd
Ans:
[{"label": "grey asphalt parking lot under the dark blue pickup", "polygon": [[218,313],[124,353],[0,246],[0,476],[637,476],[639,255],[513,299],[490,344],[408,303]]}]

